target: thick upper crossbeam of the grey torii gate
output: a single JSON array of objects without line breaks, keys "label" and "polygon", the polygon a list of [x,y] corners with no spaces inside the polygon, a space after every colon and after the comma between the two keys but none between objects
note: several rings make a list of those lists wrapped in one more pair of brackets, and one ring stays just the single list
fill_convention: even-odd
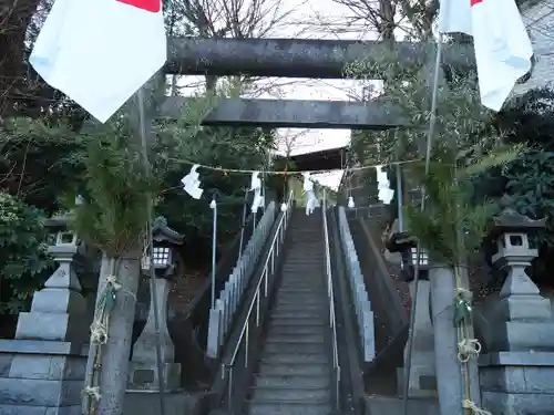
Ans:
[{"label": "thick upper crossbeam of the grey torii gate", "polygon": [[[422,42],[171,38],[165,71],[184,75],[342,79],[345,66],[360,59],[378,62],[392,52],[402,64],[421,64],[434,51],[434,45]],[[449,45],[443,62],[456,68],[473,65],[473,48]]]}]

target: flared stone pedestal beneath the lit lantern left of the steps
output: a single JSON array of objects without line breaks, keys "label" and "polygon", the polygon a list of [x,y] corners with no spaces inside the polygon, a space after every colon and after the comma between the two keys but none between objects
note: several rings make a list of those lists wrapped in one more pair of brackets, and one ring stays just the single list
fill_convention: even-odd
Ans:
[{"label": "flared stone pedestal beneath the lit lantern left of the steps", "polygon": [[151,292],[146,325],[133,347],[133,359],[131,361],[129,376],[130,390],[157,391],[160,388],[156,363],[156,332],[154,326],[154,313],[156,311],[160,319],[164,386],[166,391],[172,391],[178,388],[181,384],[181,364],[175,363],[175,347],[167,330],[167,295],[170,293],[170,281],[164,278],[156,278],[155,284],[160,309],[154,310]]}]

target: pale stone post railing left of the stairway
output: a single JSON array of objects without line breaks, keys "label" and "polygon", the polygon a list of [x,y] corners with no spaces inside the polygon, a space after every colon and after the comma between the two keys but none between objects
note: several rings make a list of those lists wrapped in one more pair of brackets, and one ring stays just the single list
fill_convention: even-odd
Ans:
[{"label": "pale stone post railing left of the stairway", "polygon": [[235,312],[240,304],[240,298],[248,287],[250,276],[258,261],[259,253],[264,247],[271,226],[275,221],[276,204],[271,201],[248,241],[243,255],[233,269],[214,307],[209,310],[208,336],[206,354],[215,359],[219,347],[223,345],[228,330],[230,329]]}]

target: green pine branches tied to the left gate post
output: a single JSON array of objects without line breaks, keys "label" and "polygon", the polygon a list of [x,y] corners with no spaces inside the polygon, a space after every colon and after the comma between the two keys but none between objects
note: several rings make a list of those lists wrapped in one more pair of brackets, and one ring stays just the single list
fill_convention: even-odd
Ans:
[{"label": "green pine branches tied to the left gate post", "polygon": [[98,126],[83,137],[75,231],[110,258],[117,258],[142,243],[148,220],[147,198],[156,181],[146,177],[140,147],[125,118]]}]

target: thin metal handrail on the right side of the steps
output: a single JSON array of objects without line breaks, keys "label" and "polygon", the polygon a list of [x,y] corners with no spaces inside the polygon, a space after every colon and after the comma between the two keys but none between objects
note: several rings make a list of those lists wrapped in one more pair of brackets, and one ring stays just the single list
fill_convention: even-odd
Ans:
[{"label": "thin metal handrail on the right side of the steps", "polygon": [[324,240],[325,240],[325,272],[327,277],[327,297],[329,300],[329,325],[332,330],[332,367],[335,370],[335,386],[336,386],[336,404],[337,409],[340,406],[339,400],[339,383],[340,383],[340,364],[339,351],[337,342],[337,318],[335,315],[335,290],[332,288],[332,271],[331,271],[331,255],[329,248],[329,229],[327,226],[327,197],[324,188],[324,200],[321,204],[321,215],[324,219]]}]

